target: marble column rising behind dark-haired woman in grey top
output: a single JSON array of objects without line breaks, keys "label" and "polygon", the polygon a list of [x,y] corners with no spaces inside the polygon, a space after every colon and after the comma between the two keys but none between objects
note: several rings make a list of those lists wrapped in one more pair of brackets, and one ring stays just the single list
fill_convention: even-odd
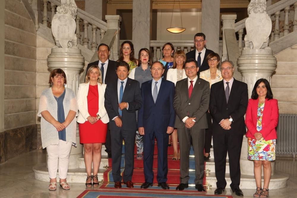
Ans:
[{"label": "marble column rising behind dark-haired woman in grey top", "polygon": [[132,43],[135,58],[141,48],[150,47],[152,0],[133,0]]}]

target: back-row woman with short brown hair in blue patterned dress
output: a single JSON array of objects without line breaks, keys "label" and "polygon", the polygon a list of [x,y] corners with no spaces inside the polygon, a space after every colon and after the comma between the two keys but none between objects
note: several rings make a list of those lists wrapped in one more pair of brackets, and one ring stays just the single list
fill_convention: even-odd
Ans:
[{"label": "back-row woman with short brown hair in blue patterned dress", "polygon": [[162,47],[162,53],[163,53],[163,58],[160,59],[159,62],[161,62],[165,67],[163,78],[166,80],[167,71],[168,69],[173,67],[173,61],[174,61],[173,59],[174,48],[172,43],[165,43]]}]

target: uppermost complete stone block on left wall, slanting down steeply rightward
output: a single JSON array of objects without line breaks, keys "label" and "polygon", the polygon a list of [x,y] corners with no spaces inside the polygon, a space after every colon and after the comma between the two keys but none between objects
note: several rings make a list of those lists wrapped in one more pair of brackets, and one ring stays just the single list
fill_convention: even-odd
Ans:
[{"label": "uppermost complete stone block on left wall, slanting down steeply rightward", "polygon": [[18,29],[22,29],[26,32],[36,34],[35,24],[33,23],[33,21],[10,11],[5,10],[4,22],[5,25],[9,25]]}]

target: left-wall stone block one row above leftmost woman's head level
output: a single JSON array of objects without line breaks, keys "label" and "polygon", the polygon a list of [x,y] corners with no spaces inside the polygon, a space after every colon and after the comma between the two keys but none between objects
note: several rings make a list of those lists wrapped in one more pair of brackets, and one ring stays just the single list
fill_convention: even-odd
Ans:
[{"label": "left-wall stone block one row above leftmost woman's head level", "polygon": [[36,72],[36,60],[5,55],[4,68],[6,70]]}]

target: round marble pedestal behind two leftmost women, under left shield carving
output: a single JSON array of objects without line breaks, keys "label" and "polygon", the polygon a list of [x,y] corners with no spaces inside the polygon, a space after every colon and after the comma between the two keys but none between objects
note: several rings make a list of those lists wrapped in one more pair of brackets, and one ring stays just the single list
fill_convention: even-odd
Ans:
[{"label": "round marble pedestal behind two leftmost women, under left shield carving", "polygon": [[[79,73],[84,66],[84,57],[80,49],[74,48],[52,48],[48,56],[48,68],[51,70],[61,68],[66,73],[66,87],[77,93],[79,85]],[[79,143],[78,127],[76,130],[77,147],[72,147],[69,157],[69,169],[78,168],[78,158],[83,155],[83,145]]]}]

